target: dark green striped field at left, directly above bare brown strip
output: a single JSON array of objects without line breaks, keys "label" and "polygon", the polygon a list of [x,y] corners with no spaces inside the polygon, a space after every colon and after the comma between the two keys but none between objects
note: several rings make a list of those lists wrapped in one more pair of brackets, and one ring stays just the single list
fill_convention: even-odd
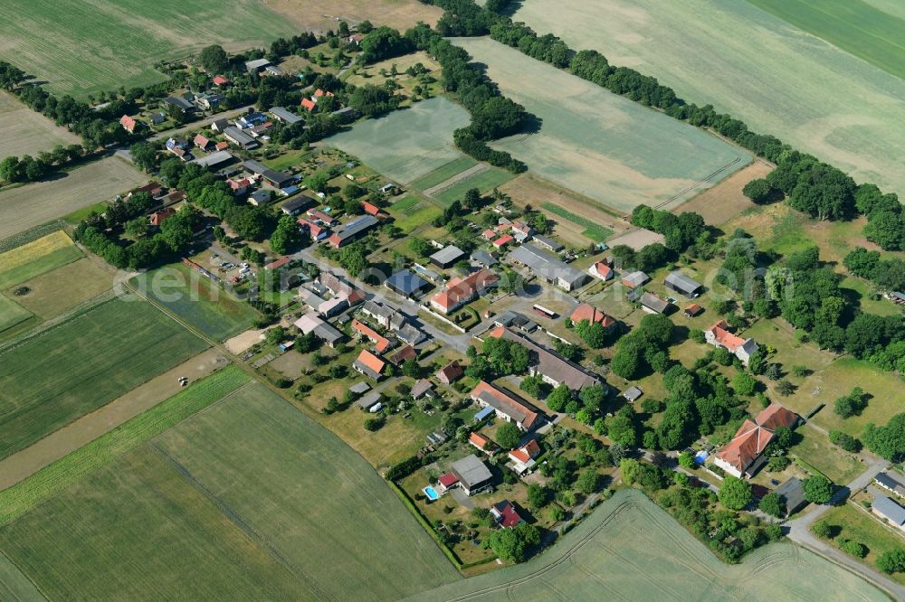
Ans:
[{"label": "dark green striped field at left, directly above bare brown strip", "polygon": [[207,346],[156,307],[114,299],[0,352],[0,457]]}]

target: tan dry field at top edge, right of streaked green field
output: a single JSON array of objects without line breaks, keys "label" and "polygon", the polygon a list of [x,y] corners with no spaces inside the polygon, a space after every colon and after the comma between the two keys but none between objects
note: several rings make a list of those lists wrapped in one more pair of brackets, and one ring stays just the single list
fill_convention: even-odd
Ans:
[{"label": "tan dry field at top edge, right of streaked green field", "polygon": [[419,21],[434,25],[443,14],[441,9],[416,0],[270,0],[268,6],[300,29],[319,33],[335,31],[339,19],[350,25],[367,20],[405,30]]}]

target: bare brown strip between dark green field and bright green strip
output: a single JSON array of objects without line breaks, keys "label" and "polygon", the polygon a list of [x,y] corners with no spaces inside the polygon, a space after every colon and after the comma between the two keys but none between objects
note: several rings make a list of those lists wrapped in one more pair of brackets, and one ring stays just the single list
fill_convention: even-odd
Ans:
[{"label": "bare brown strip between dark green field and bright green strip", "polygon": [[33,446],[5,457],[0,460],[0,490],[23,481],[44,466],[169,399],[180,390],[177,382],[180,376],[186,376],[190,382],[194,382],[223,367],[226,362],[224,354],[219,350],[208,349],[110,401],[102,408],[54,431]]}]

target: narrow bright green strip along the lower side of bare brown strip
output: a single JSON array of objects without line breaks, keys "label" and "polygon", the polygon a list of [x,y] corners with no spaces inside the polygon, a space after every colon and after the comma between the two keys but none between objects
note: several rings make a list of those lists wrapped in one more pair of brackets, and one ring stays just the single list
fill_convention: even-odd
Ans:
[{"label": "narrow bright green strip along the lower side of bare brown strip", "polygon": [[14,521],[45,499],[113,463],[119,456],[176,426],[214,401],[222,400],[250,380],[230,366],[192,383],[187,389],[101,435],[88,445],[44,467],[24,481],[0,492],[0,525]]}]

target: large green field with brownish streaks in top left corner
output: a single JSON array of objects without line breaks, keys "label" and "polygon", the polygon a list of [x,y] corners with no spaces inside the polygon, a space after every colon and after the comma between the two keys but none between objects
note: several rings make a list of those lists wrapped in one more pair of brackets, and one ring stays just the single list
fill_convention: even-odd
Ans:
[{"label": "large green field with brownish streaks in top left corner", "polygon": [[238,51],[298,33],[256,0],[9,0],[5,9],[16,18],[0,22],[4,58],[76,97],[165,80],[155,62],[207,44]]}]

